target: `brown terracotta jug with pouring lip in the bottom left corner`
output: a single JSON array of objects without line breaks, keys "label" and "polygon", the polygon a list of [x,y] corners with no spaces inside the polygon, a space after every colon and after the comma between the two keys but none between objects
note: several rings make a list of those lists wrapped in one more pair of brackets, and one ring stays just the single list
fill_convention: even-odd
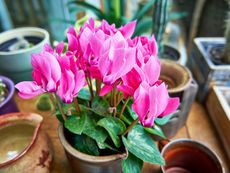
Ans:
[{"label": "brown terracotta jug with pouring lip in the bottom left corner", "polygon": [[0,172],[48,173],[52,155],[42,116],[11,113],[0,117]]}]

